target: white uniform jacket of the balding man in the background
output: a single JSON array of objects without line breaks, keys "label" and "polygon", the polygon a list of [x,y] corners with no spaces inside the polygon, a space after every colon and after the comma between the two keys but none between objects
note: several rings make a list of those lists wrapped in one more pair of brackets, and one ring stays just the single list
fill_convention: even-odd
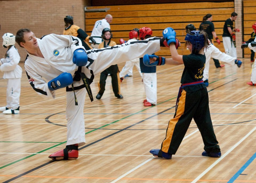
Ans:
[{"label": "white uniform jacket of the balding man in the background", "polygon": [[[93,37],[97,44],[102,42],[101,34],[102,30],[105,28],[110,29],[110,25],[105,18],[95,22],[93,31],[91,32],[91,37]],[[92,43],[91,40],[89,40],[89,43]]]}]

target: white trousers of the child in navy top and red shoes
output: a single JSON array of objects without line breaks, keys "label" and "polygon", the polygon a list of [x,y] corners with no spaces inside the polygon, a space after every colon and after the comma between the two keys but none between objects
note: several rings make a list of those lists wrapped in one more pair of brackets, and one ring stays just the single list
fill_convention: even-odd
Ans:
[{"label": "white trousers of the child in navy top and red shoes", "polygon": [[157,73],[143,73],[143,85],[147,101],[157,104]]}]

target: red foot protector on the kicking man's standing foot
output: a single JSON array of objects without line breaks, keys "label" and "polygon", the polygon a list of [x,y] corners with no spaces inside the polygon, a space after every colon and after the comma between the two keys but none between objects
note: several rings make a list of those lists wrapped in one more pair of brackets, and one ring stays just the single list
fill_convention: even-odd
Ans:
[{"label": "red foot protector on the kicking man's standing foot", "polygon": [[[70,152],[68,152],[71,150]],[[65,149],[59,150],[49,156],[49,158],[63,157],[63,160],[68,160],[69,158],[78,158],[78,144],[67,145]]]}]

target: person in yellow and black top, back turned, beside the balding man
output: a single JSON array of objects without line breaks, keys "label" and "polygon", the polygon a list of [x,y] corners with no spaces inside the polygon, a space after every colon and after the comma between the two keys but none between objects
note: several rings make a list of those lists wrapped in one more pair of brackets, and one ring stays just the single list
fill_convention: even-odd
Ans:
[{"label": "person in yellow and black top, back turned, beside the balding man", "polygon": [[89,43],[85,42],[88,39],[91,40],[94,44],[96,44],[96,41],[90,37],[88,34],[86,34],[85,31],[83,31],[80,27],[73,25],[73,17],[70,15],[67,15],[64,18],[65,22],[65,29],[63,30],[63,35],[70,35],[70,36],[76,36],[82,41],[83,47],[85,47],[86,50],[92,49],[91,46],[89,46]]}]

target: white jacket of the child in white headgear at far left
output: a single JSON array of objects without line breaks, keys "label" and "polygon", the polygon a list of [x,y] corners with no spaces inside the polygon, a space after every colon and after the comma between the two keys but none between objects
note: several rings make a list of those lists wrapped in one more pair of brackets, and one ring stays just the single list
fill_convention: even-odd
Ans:
[{"label": "white jacket of the child in white headgear at far left", "polygon": [[19,56],[18,50],[15,46],[11,46],[7,51],[7,57],[2,58],[2,65],[0,66],[0,70],[5,72],[3,74],[3,79],[11,79],[11,78],[21,78],[22,68],[18,65],[21,57]]}]

